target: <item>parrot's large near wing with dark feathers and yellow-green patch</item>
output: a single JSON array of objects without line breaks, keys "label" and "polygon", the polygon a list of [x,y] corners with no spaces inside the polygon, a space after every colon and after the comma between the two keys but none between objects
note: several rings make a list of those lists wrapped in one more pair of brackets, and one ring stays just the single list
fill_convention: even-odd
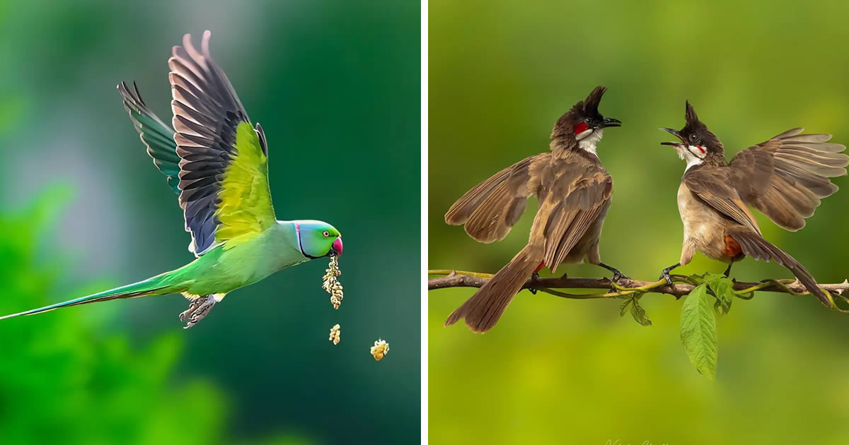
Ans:
[{"label": "parrot's large near wing with dark feathers and yellow-green patch", "polygon": [[183,36],[183,46],[168,59],[180,207],[192,234],[189,250],[199,256],[246,241],[275,220],[265,134],[250,124],[227,75],[212,60],[210,36],[204,32],[200,52]]}]

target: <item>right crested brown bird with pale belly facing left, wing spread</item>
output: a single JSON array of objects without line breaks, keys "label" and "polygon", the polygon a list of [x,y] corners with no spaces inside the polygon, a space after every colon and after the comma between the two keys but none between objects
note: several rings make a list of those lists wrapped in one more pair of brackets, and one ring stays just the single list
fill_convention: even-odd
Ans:
[{"label": "right crested brown bird with pale belly facing left, wing spread", "polygon": [[831,135],[801,134],[801,128],[784,131],[725,161],[722,142],[699,120],[686,103],[687,120],[681,131],[661,128],[677,136],[670,145],[687,161],[678,187],[678,212],[684,226],[681,260],[667,267],[661,277],[672,284],[669,272],[688,264],[695,251],[728,263],[746,255],[773,259],[783,265],[826,306],[834,303],[810,272],[789,254],[763,239],[748,205],[766,214],[788,231],[797,231],[813,214],[820,198],[837,192],[830,177],[846,175],[846,147],[829,142]]}]

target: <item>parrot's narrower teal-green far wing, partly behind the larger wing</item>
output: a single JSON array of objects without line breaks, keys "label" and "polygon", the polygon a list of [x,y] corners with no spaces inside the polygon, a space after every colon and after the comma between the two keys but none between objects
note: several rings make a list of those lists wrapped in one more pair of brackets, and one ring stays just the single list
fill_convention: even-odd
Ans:
[{"label": "parrot's narrower teal-green far wing, partly behind the larger wing", "polygon": [[174,131],[171,126],[160,120],[150,111],[148,105],[142,100],[138,93],[136,82],[132,82],[132,90],[126,83],[118,84],[118,92],[124,97],[124,108],[130,114],[132,124],[138,131],[144,145],[148,147],[148,154],[154,159],[156,168],[168,178],[171,190],[179,194],[177,187],[180,183],[180,157],[177,156],[177,143],[174,142]]}]

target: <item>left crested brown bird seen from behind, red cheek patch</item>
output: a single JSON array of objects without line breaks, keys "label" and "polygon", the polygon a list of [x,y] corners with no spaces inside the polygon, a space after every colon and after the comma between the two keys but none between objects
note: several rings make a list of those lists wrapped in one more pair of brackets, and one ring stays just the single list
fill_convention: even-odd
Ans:
[{"label": "left crested brown bird seen from behind, red cheek patch", "polygon": [[451,315],[445,325],[466,320],[469,329],[492,329],[508,304],[531,275],[543,267],[554,272],[561,263],[585,258],[613,272],[601,262],[599,236],[610,209],[613,179],[596,155],[604,129],[619,126],[616,119],[599,114],[606,88],[596,87],[586,100],[576,103],[554,124],[551,153],[523,159],[473,187],[448,209],[445,221],[465,225],[479,242],[500,241],[525,211],[527,199],[539,202],[531,236],[525,248],[475,295]]}]

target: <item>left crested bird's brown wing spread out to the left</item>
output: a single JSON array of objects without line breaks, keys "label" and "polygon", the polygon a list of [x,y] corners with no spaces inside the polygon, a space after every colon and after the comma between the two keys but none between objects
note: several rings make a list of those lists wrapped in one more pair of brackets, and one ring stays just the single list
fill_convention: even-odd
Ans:
[{"label": "left crested bird's brown wing spread out to the left", "polygon": [[465,225],[466,233],[479,242],[501,241],[522,213],[528,197],[540,186],[540,170],[551,153],[522,159],[472,187],[448,209],[445,222]]}]

